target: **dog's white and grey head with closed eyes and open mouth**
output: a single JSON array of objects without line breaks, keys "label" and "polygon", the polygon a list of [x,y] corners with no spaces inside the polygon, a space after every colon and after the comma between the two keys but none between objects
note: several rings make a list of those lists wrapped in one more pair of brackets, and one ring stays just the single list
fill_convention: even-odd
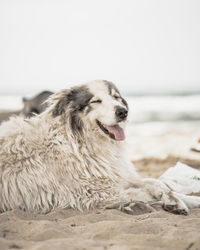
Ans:
[{"label": "dog's white and grey head with closed eyes and open mouth", "polygon": [[74,131],[81,133],[86,126],[116,141],[125,139],[123,126],[128,105],[111,82],[93,81],[67,91],[56,104],[53,116],[68,112]]}]

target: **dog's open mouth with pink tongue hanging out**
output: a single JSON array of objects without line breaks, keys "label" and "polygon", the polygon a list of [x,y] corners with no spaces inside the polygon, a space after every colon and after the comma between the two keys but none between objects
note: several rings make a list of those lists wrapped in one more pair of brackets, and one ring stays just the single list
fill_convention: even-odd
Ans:
[{"label": "dog's open mouth with pink tongue hanging out", "polygon": [[113,126],[108,126],[108,125],[102,124],[98,120],[97,120],[97,124],[99,125],[100,129],[105,134],[109,135],[112,139],[114,139],[116,141],[125,140],[124,130],[118,124],[113,125]]}]

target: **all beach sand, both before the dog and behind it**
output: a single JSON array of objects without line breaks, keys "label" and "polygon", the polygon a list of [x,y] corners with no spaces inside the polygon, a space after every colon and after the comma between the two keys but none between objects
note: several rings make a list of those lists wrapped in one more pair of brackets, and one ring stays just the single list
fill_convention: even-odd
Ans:
[{"label": "all beach sand, both before the dog and behind it", "polygon": [[[128,138],[132,161],[142,176],[158,177],[178,160],[200,169],[200,153],[190,151],[197,135],[198,131],[151,137],[132,135]],[[4,249],[197,250],[200,209],[192,209],[188,216],[161,209],[141,215],[117,210],[81,213],[57,209],[46,215],[9,211],[0,214],[0,250]]]}]

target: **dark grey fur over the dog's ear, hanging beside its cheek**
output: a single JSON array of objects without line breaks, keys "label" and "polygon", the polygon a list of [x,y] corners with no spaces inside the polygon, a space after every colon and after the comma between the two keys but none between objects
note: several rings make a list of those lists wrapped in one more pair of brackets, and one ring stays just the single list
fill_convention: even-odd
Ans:
[{"label": "dark grey fur over the dog's ear, hanging beside its cheek", "polygon": [[79,116],[79,112],[83,112],[83,110],[85,109],[85,107],[87,107],[92,97],[93,95],[89,92],[86,86],[72,88],[56,104],[53,110],[53,117],[64,114],[66,108],[70,106],[71,128],[74,132],[81,132],[83,127],[83,122]]}]

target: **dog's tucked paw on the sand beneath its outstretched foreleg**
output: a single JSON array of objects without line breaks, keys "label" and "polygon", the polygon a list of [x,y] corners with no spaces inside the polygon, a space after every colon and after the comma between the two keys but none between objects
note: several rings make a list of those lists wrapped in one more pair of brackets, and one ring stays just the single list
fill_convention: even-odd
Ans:
[{"label": "dog's tucked paw on the sand beneath its outstretched foreleg", "polygon": [[105,207],[106,209],[117,209],[131,215],[140,215],[156,211],[151,205],[141,201],[118,202]]}]

